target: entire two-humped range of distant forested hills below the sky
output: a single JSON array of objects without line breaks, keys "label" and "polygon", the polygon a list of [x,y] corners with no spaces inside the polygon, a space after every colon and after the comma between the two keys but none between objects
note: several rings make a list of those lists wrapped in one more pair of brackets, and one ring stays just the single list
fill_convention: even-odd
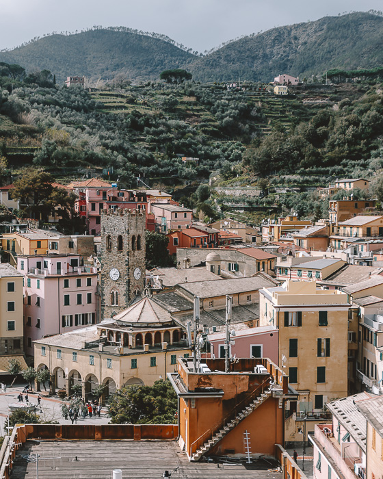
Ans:
[{"label": "entire two-humped range of distant forested hills below the sky", "polygon": [[383,65],[383,17],[364,12],[276,27],[230,42],[204,57],[159,37],[101,28],[55,34],[0,52],[0,62],[21,64],[27,71],[48,69],[60,82],[68,75],[96,80],[123,74],[135,81],[153,80],[169,68],[190,70],[200,81],[238,76],[269,81],[279,73],[303,78],[332,68]]}]

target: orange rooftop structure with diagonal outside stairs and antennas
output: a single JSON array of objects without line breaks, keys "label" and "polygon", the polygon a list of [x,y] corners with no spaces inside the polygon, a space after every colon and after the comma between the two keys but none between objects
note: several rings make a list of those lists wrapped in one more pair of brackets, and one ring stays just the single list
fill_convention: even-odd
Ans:
[{"label": "orange rooftop structure with diagonal outside stairs and antennas", "polygon": [[203,359],[194,372],[192,358],[180,358],[169,373],[179,396],[179,444],[189,460],[202,456],[246,455],[245,435],[253,457],[275,456],[284,441],[287,376],[268,359],[237,359],[225,371],[224,359]]}]

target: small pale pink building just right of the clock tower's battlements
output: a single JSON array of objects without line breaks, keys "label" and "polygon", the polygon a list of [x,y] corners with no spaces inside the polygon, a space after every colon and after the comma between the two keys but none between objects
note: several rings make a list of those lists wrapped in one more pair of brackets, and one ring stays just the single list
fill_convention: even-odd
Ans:
[{"label": "small pale pink building just right of the clock tower's battlements", "polygon": [[151,211],[155,214],[156,229],[160,233],[168,233],[172,229],[185,228],[192,224],[193,211],[170,203],[154,203]]}]

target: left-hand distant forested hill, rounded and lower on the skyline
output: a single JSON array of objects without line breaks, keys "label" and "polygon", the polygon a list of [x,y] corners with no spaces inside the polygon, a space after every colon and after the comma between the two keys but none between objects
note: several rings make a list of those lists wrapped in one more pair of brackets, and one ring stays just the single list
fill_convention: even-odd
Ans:
[{"label": "left-hand distant forested hill, rounded and lower on the skyline", "polygon": [[158,79],[161,71],[187,66],[194,58],[160,38],[111,29],[55,34],[0,52],[0,62],[20,64],[27,71],[48,69],[60,82],[69,75],[93,80],[113,79],[118,74],[128,79]]}]

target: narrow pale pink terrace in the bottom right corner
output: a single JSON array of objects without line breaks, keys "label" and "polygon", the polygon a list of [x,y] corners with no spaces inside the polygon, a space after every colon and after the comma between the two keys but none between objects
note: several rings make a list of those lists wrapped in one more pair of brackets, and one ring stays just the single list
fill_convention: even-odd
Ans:
[{"label": "narrow pale pink terrace in the bottom right corner", "polygon": [[310,441],[321,454],[330,458],[345,479],[366,479],[365,464],[362,463],[362,450],[354,442],[339,444],[334,438],[332,424],[315,426],[315,435]]}]

